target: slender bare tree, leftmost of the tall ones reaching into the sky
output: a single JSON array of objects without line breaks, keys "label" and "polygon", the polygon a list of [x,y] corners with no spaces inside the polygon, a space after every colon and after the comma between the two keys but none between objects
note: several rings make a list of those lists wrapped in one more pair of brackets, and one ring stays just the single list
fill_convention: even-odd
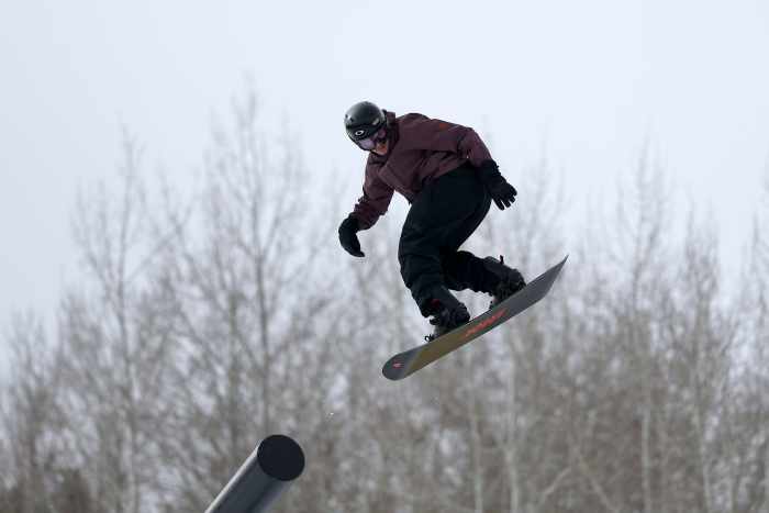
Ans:
[{"label": "slender bare tree, leftmost of the tall ones reaching into the sky", "polygon": [[155,250],[141,159],[124,132],[116,197],[103,183],[96,194],[80,194],[73,225],[85,281],[60,310],[69,438],[77,460],[90,467],[99,509],[126,513],[145,511],[155,497],[155,398],[168,356],[146,292]]}]

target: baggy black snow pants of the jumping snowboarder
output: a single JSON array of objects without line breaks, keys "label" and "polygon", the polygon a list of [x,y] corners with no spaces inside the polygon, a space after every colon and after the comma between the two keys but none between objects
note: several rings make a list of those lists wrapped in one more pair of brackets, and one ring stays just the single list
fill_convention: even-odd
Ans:
[{"label": "baggy black snow pants of the jumping snowboarder", "polygon": [[498,279],[483,260],[459,250],[489,212],[491,198],[470,165],[447,172],[427,185],[411,205],[403,223],[398,260],[405,286],[428,316],[430,291],[490,292]]}]

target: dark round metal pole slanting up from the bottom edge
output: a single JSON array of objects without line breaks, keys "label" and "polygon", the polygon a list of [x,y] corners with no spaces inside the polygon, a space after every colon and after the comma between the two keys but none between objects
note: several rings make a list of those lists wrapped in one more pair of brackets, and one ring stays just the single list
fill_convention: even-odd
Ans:
[{"label": "dark round metal pole slanting up from the bottom edge", "polygon": [[304,470],[304,453],[292,438],[268,436],[250,454],[205,513],[261,513]]}]

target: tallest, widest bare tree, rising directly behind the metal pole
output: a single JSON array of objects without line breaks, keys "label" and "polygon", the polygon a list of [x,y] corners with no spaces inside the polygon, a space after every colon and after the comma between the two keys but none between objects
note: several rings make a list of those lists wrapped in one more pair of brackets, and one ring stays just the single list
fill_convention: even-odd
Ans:
[{"label": "tallest, widest bare tree, rising directly behind the metal pole", "polygon": [[214,130],[203,189],[190,205],[169,189],[157,230],[174,234],[154,282],[179,352],[161,454],[175,468],[176,506],[190,510],[258,439],[285,431],[301,440],[334,376],[312,364],[333,352],[324,336],[336,333],[336,312],[328,277],[313,274],[328,232],[312,232],[301,159],[268,140],[253,90],[233,119],[232,130]]}]

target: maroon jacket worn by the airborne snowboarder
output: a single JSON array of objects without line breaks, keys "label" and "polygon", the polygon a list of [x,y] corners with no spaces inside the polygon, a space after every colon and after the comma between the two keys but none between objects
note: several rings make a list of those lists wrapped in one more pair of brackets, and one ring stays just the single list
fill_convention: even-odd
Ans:
[{"label": "maroon jacket worn by the airborne snowboarder", "polygon": [[478,134],[470,127],[430,119],[422,114],[388,119],[390,146],[387,155],[370,153],[366,163],[364,196],[353,215],[361,230],[371,227],[387,212],[393,191],[413,202],[432,180],[470,163],[479,167],[491,158]]}]

